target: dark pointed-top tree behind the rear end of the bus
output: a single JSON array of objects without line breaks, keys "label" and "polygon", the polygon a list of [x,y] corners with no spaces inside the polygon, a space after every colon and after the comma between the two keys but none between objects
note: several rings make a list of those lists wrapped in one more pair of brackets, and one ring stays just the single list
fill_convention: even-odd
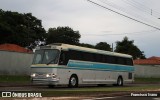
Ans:
[{"label": "dark pointed-top tree behind the rear end of the bus", "polygon": [[124,37],[122,41],[116,42],[116,49],[115,52],[125,53],[133,56],[133,59],[141,58],[145,59],[145,55],[143,51],[134,45],[134,41],[128,40],[128,37]]}]

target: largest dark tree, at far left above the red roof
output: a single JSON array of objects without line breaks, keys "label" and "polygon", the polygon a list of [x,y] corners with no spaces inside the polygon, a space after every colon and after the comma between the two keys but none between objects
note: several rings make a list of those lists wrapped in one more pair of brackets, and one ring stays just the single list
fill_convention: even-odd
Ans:
[{"label": "largest dark tree, at far left above the red roof", "polygon": [[0,44],[13,43],[23,47],[34,47],[38,41],[44,41],[45,33],[41,20],[31,13],[0,10]]}]

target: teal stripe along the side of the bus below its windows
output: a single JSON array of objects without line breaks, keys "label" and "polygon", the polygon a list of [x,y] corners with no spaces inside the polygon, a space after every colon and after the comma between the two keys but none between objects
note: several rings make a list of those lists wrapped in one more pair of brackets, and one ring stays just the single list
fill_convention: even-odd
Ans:
[{"label": "teal stripe along the side of the bus below its windows", "polygon": [[133,72],[133,66],[116,65],[107,63],[97,63],[88,61],[69,60],[67,66],[34,66],[31,68],[60,68],[60,69],[75,69],[75,70],[95,70],[95,71],[116,71],[116,72]]}]

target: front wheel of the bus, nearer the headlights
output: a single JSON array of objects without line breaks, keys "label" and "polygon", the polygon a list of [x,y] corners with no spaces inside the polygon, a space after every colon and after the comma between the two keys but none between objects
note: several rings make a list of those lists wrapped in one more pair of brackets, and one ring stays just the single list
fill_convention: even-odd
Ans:
[{"label": "front wheel of the bus, nearer the headlights", "polygon": [[76,75],[72,75],[69,79],[69,85],[70,88],[78,87],[78,77]]}]

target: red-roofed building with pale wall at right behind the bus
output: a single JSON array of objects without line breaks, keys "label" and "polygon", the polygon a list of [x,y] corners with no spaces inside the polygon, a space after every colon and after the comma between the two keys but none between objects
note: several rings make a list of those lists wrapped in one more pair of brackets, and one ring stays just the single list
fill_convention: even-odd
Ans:
[{"label": "red-roofed building with pale wall at right behind the bus", "polygon": [[134,60],[135,77],[160,77],[160,57]]}]

